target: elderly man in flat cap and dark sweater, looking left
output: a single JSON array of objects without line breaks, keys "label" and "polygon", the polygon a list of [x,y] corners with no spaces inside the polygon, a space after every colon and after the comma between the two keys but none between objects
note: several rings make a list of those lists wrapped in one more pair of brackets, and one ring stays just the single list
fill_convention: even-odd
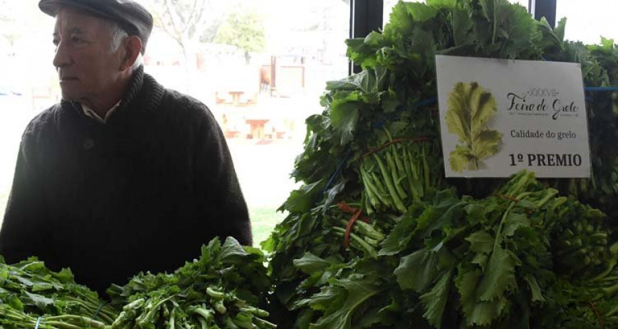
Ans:
[{"label": "elderly man in flat cap and dark sweater, looking left", "polygon": [[38,256],[101,292],[139,271],[172,271],[215,236],[251,245],[211,112],[140,64],[152,16],[129,0],[38,5],[56,17],[62,101],[23,133],[0,231],[5,260]]}]

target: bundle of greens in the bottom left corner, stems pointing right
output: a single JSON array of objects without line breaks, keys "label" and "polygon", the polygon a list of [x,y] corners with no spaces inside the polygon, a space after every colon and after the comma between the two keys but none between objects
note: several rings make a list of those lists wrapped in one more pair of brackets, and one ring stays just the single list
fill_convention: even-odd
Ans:
[{"label": "bundle of greens in the bottom left corner, stems pointing right", "polygon": [[34,257],[0,262],[0,328],[104,328],[118,314],[68,269],[50,271]]}]

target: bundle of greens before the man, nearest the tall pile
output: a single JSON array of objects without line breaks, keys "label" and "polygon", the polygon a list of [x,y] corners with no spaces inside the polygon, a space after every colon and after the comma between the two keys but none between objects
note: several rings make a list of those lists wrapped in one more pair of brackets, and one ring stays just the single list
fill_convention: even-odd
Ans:
[{"label": "bundle of greens before the man, nearest the tall pile", "polygon": [[264,255],[228,237],[174,273],[140,273],[108,295],[122,307],[111,328],[276,328],[261,307],[270,287]]}]

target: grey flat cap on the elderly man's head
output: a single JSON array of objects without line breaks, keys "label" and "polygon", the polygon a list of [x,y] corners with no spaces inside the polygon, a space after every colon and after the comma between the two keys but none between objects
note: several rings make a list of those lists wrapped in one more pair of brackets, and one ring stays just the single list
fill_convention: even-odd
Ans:
[{"label": "grey flat cap on the elderly man's head", "polygon": [[146,8],[131,0],[41,0],[38,8],[45,14],[56,16],[58,8],[68,6],[93,16],[114,21],[129,36],[141,39],[141,53],[146,51],[146,42],[152,32],[152,15]]}]

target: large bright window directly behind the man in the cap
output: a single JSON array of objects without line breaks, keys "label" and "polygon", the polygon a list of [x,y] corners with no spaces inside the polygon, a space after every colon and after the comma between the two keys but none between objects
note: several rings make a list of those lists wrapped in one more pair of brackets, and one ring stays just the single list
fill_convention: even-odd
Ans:
[{"label": "large bright window directly behind the man in the cap", "polygon": [[[306,117],[321,112],[325,82],[347,76],[349,1],[137,1],[155,16],[145,71],[213,112],[257,245],[284,217],[275,210],[296,186],[290,172]],[[60,89],[52,66],[54,19],[38,10],[38,0],[0,3],[1,221],[21,133],[60,100]]]}]

